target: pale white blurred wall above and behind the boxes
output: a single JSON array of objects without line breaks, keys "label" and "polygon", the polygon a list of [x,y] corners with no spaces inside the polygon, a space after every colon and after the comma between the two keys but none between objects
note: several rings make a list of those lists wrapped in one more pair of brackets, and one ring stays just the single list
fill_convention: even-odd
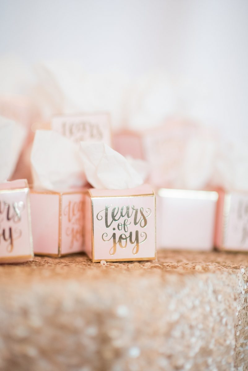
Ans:
[{"label": "pale white blurred wall above and behind the boxes", "polygon": [[168,114],[247,140],[247,19],[246,0],[0,0],[0,91],[11,85],[4,68],[16,69],[15,58],[20,66],[77,60],[85,72],[131,78],[155,73]]}]

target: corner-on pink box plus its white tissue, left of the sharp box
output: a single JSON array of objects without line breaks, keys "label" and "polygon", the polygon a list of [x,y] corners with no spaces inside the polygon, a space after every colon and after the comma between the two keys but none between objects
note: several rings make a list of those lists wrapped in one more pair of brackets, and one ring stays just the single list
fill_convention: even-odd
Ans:
[{"label": "corner-on pink box plus its white tissue, left of the sharp box", "polygon": [[83,251],[85,175],[78,144],[37,130],[30,190],[34,252],[62,256]]}]

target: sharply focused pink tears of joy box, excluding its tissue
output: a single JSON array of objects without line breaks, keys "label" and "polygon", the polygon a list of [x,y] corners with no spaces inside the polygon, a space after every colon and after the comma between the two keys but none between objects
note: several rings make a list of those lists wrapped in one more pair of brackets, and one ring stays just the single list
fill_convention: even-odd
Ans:
[{"label": "sharply focused pink tears of joy box, excluding its tissue", "polygon": [[156,258],[155,195],[150,185],[91,188],[85,197],[85,252],[93,262]]}]

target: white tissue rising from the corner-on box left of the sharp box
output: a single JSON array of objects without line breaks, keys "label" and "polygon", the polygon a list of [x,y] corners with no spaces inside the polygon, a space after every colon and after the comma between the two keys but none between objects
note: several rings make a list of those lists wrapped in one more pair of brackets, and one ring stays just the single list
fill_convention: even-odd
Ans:
[{"label": "white tissue rising from the corner-on box left of the sharp box", "polygon": [[51,130],[37,130],[31,152],[33,185],[60,191],[86,183],[78,145]]}]

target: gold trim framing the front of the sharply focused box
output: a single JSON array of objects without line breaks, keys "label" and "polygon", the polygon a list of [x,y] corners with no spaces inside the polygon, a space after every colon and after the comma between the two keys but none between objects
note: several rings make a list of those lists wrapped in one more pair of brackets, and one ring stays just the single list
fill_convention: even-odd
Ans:
[{"label": "gold trim framing the front of the sharply focused box", "polygon": [[[141,195],[135,195],[135,196],[104,196],[104,197],[94,197],[91,195],[91,191],[88,190],[89,192],[89,197],[91,197],[91,259],[92,259],[92,263],[99,263],[101,262],[101,260],[105,260],[106,262],[135,262],[135,261],[143,261],[143,260],[156,260],[157,259],[157,241],[156,241],[156,195],[153,191],[153,193],[151,194],[141,194]],[[94,244],[94,211],[93,211],[93,198],[111,198],[111,197],[153,197],[154,198],[154,202],[153,202],[153,207],[154,207],[154,239],[155,239],[155,251],[154,251],[154,257],[137,257],[137,258],[120,258],[120,259],[106,259],[106,258],[102,258],[102,259],[95,259],[95,254],[94,254],[94,247],[95,247],[95,244]]]}]

